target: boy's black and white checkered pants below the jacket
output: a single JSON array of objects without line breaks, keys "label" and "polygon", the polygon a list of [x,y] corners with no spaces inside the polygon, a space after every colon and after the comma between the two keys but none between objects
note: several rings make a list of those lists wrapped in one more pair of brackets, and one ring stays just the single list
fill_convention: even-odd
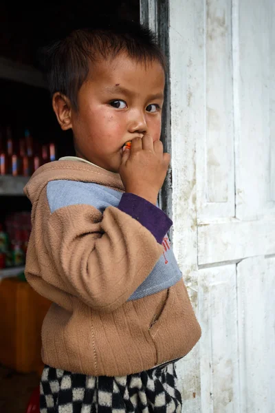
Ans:
[{"label": "boy's black and white checkered pants below the jacket", "polygon": [[92,377],[45,366],[41,413],[181,413],[175,364],[124,377]]}]

